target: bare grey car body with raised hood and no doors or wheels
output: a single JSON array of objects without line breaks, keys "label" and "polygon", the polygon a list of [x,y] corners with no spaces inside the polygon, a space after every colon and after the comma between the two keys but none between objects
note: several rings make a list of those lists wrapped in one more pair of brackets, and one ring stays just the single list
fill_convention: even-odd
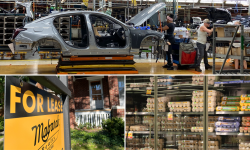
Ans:
[{"label": "bare grey car body with raised hood and no doors or wheels", "polygon": [[[40,18],[26,24],[23,28],[14,31],[12,42],[9,44],[12,52],[27,52],[33,48],[41,46],[42,43],[51,42],[55,48],[61,49],[63,56],[72,55],[130,55],[138,54],[141,46],[157,46],[159,43],[164,45],[164,34],[153,30],[140,30],[134,27],[140,26],[152,15],[160,11],[166,6],[165,3],[154,4],[129,20],[126,24],[104,13],[96,11],[68,11],[50,14],[49,16]],[[95,34],[91,25],[90,15],[102,16],[110,19],[120,25],[124,31],[126,46],[123,48],[99,47],[96,43]],[[53,21],[57,17],[65,15],[83,15],[86,18],[89,44],[86,48],[75,48],[68,45],[53,25]],[[33,16],[31,16],[33,17]],[[129,25],[128,25],[129,24]],[[131,26],[131,24],[133,26]],[[155,40],[153,40],[155,39]]]}]

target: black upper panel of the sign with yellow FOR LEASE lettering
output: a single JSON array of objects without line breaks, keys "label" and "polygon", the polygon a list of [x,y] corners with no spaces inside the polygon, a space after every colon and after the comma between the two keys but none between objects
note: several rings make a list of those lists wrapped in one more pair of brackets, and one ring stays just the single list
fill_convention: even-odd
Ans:
[{"label": "black upper panel of the sign with yellow FOR LEASE lettering", "polygon": [[7,77],[5,109],[5,119],[40,116],[62,113],[63,103],[55,95],[29,83],[21,86],[19,79]]}]

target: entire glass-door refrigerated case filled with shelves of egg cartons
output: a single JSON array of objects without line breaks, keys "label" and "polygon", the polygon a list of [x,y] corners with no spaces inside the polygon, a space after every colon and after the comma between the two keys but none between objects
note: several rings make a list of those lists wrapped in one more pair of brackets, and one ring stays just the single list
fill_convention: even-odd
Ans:
[{"label": "entire glass-door refrigerated case filled with shelves of egg cartons", "polygon": [[250,149],[250,76],[127,76],[128,150]]}]

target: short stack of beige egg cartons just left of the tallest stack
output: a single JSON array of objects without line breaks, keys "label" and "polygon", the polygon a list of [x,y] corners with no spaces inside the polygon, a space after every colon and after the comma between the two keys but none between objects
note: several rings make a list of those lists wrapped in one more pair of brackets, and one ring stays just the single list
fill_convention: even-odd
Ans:
[{"label": "short stack of beige egg cartons just left of the tallest stack", "polygon": [[191,112],[190,102],[168,102],[170,112]]}]

